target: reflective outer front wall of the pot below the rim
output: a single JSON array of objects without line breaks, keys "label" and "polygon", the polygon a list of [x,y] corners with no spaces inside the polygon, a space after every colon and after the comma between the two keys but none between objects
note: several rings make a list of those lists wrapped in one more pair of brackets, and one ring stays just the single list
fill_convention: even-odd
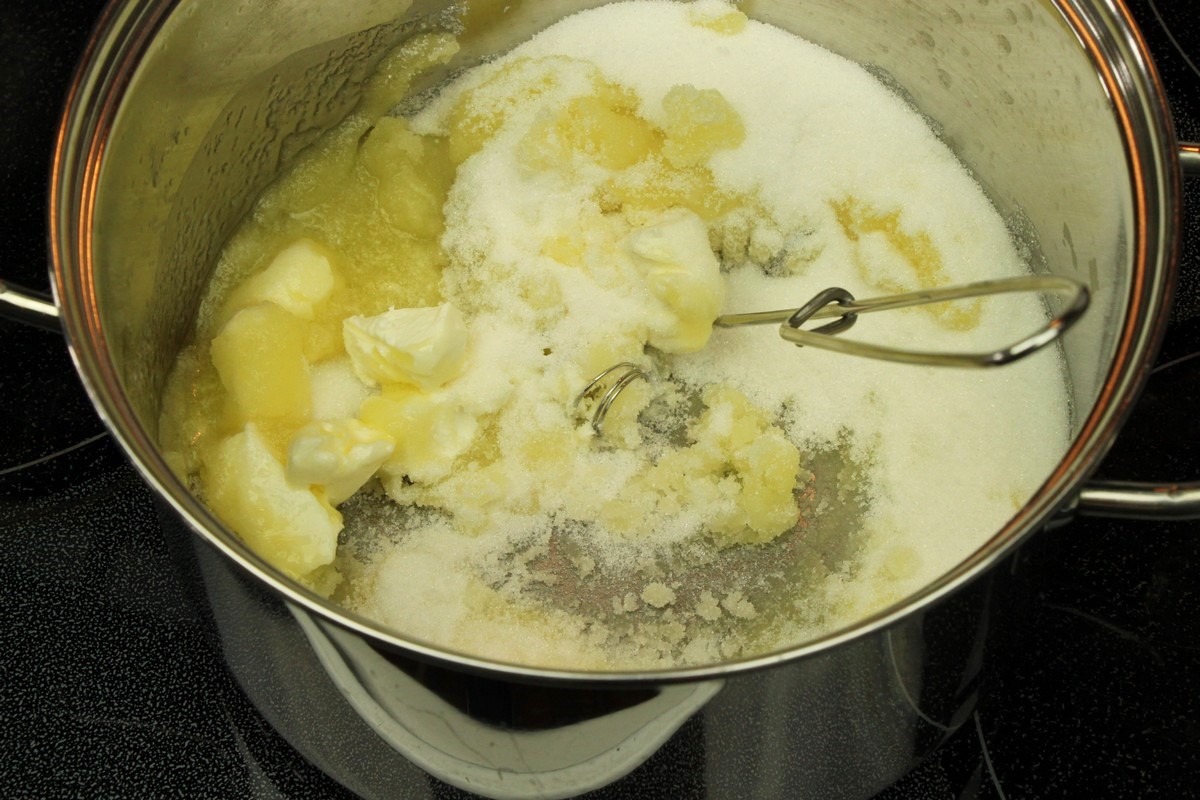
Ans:
[{"label": "reflective outer front wall of the pot below the rim", "polygon": [[169,513],[163,525],[202,576],[242,688],[365,798],[439,796],[438,782],[487,798],[604,787],[666,798],[682,775],[703,796],[866,798],[974,708],[988,581],[815,658],[724,680],[570,687],[373,646],[289,609]]}]

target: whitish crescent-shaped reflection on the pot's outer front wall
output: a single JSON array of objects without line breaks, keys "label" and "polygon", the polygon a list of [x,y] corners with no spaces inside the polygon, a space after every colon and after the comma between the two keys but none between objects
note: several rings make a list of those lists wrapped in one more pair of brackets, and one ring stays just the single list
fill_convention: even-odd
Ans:
[{"label": "whitish crescent-shaped reflection on the pot's outer front wall", "polygon": [[629,774],[722,681],[587,692],[468,676],[386,657],[292,606],[346,700],[392,748],[491,798],[570,798]]}]

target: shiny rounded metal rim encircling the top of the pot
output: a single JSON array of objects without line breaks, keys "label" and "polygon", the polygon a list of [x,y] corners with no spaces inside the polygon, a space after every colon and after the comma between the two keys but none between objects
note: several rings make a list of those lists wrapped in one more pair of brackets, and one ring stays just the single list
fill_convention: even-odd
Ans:
[{"label": "shiny rounded metal rim encircling the top of the pot", "polygon": [[[535,681],[665,684],[713,680],[805,658],[882,631],[978,578],[1054,515],[1070,507],[1128,415],[1157,353],[1177,269],[1182,188],[1177,145],[1148,50],[1128,10],[1115,4],[1055,0],[1093,64],[1112,103],[1134,199],[1130,291],[1099,397],[1060,465],[1033,498],[971,557],[902,601],[816,639],[778,651],[715,664],[641,670],[574,670],[511,664],[410,640],[347,612],[282,575],[252,552],[175,477],[121,389],[92,291],[91,251],[96,184],[106,140],[133,72],[175,0],[127,0],[108,6],[71,83],[55,143],[49,203],[49,245],[55,302],[71,356],[104,423],[154,492],[192,530],[290,603],[376,645],[440,666]],[[1052,12],[1050,12],[1052,13]]]}]

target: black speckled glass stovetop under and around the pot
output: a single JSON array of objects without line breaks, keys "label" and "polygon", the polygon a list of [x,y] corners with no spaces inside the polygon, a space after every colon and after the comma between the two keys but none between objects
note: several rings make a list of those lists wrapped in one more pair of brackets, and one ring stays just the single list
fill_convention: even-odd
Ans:
[{"label": "black speckled glass stovetop under and around the pot", "polygon": [[[1200,22],[1170,1],[1129,5],[1180,137],[1200,140]],[[0,275],[16,283],[47,285],[54,127],[102,5],[0,4]],[[1200,186],[1186,199],[1172,325],[1106,476],[1200,477]],[[348,796],[226,670],[59,336],[0,320],[0,795]],[[1200,796],[1200,523],[1076,519],[1009,569],[977,712],[882,796]]]}]

